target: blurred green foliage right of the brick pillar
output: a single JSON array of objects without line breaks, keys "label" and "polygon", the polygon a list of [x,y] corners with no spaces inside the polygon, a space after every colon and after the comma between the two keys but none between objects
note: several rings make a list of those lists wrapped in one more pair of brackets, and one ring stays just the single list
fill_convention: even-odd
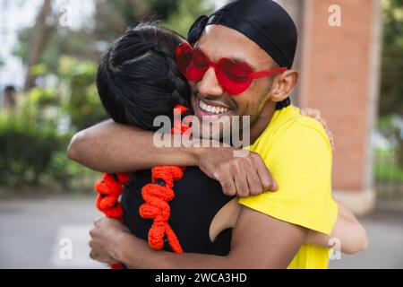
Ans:
[{"label": "blurred green foliage right of the brick pillar", "polygon": [[[382,0],[382,78],[378,131],[391,143],[389,160],[375,151],[375,178],[403,181],[403,3]],[[400,124],[399,124],[400,123]]]}]

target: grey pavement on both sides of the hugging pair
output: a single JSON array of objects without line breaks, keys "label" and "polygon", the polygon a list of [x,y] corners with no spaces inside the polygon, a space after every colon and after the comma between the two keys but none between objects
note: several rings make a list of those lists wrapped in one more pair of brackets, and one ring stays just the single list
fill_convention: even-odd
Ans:
[{"label": "grey pavement on both sides of the hugging pair", "polygon": [[[0,200],[0,268],[107,268],[88,257],[88,232],[101,216],[94,200]],[[360,220],[370,247],[330,260],[330,268],[403,268],[403,212],[377,211]]]}]

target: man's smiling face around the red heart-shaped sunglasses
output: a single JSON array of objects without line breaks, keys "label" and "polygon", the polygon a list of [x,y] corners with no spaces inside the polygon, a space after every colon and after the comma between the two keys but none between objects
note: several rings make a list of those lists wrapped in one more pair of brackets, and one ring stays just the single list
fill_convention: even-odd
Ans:
[{"label": "man's smiling face around the red heart-shaped sunglasses", "polygon": [[[253,67],[254,72],[277,66],[273,59],[251,39],[222,25],[207,26],[195,47],[201,48],[215,63],[220,58],[227,57],[246,62]],[[190,83],[194,115],[200,120],[201,117],[212,116],[250,116],[252,127],[263,106],[270,100],[272,81],[273,77],[255,79],[246,91],[232,96],[222,89],[214,68],[210,67],[201,81]],[[221,125],[219,127],[222,136],[223,127]],[[213,135],[203,135],[203,137],[210,136]]]}]

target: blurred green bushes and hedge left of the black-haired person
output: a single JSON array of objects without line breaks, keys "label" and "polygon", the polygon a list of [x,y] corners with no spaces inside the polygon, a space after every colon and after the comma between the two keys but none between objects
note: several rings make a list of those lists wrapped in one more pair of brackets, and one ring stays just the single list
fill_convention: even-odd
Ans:
[{"label": "blurred green bushes and hedge left of the black-haired person", "polygon": [[[47,65],[32,69],[47,75]],[[66,149],[73,132],[107,118],[94,84],[97,65],[62,57],[58,71],[55,83],[31,89],[15,110],[0,112],[0,187],[90,190],[97,173],[70,161]]]}]

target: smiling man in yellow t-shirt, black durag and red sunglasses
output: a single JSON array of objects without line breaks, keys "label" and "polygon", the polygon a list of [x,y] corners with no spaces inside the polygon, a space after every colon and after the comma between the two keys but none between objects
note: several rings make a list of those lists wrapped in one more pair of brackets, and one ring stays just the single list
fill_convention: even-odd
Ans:
[{"label": "smiling man in yellow t-shirt, black durag and red sunglasses", "polygon": [[[139,159],[133,167],[128,163],[130,152],[124,150],[124,144],[113,142],[115,136],[110,136],[107,144],[108,149],[120,151],[114,158],[122,170],[125,162],[127,170],[163,164],[199,165],[211,178],[219,180],[227,194],[252,195],[238,200],[242,207],[236,217],[231,250],[226,257],[155,252],[119,222],[101,220],[91,233],[92,257],[133,268],[326,268],[329,248],[305,245],[304,240],[309,230],[330,235],[338,217],[338,206],[331,198],[332,154],[323,126],[302,116],[288,101],[298,78],[291,69],[296,50],[294,23],[272,1],[238,0],[209,18],[200,18],[190,31],[189,40],[192,39],[210,59],[201,79],[190,83],[195,116],[210,117],[218,109],[225,110],[222,113],[229,117],[249,116],[253,143],[248,147],[250,155],[229,159],[231,148],[221,148],[220,152],[178,148],[167,154],[164,149],[152,147],[147,132],[132,130],[135,137],[131,139],[149,157],[147,163]],[[228,58],[232,62],[223,60]],[[236,63],[250,66],[253,75],[232,75],[239,67]],[[236,68],[231,69],[231,65]],[[279,66],[287,67],[287,71],[271,73]],[[92,134],[92,159],[97,158],[94,151],[106,150],[105,145],[95,148],[95,139],[117,135],[118,129],[129,134],[123,127],[107,128],[103,126],[102,137],[97,137],[99,130]],[[105,170],[88,157],[79,160],[75,154],[80,152],[73,151],[72,147],[70,156],[75,160]],[[276,189],[276,184],[254,166],[260,164],[256,153],[276,179],[277,192],[260,194],[262,189]],[[114,170],[111,161],[108,169]]]}]

